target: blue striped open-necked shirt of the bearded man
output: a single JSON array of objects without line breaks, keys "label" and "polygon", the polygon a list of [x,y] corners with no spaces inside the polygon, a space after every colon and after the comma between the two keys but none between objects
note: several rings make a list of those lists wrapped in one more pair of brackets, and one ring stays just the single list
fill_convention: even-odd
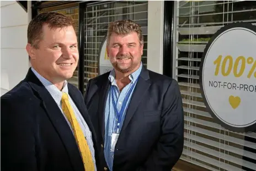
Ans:
[{"label": "blue striped open-necked shirt of the bearded man", "polygon": [[[114,103],[118,104],[117,108],[118,108],[118,112],[120,112],[122,103],[124,101],[124,98],[127,95],[127,92],[130,90],[130,87],[133,84],[136,84],[136,80],[138,79],[138,76],[141,73],[141,69],[142,69],[142,63],[140,65],[140,68],[138,68],[134,73],[132,73],[131,75],[129,75],[129,79],[131,80],[131,82],[126,85],[124,87],[124,89],[122,89],[122,91],[119,91],[118,85],[116,85],[116,81],[115,81],[115,70],[112,70],[109,74],[109,81],[111,82],[111,88],[114,86],[115,88],[115,95],[114,95]],[[110,88],[110,90],[111,90]],[[135,86],[134,86],[135,89]],[[120,123],[120,130],[122,128],[122,124],[124,122],[125,119],[125,114],[126,114],[126,109],[127,106],[129,105],[132,93],[134,92],[134,89],[131,91],[130,96],[128,98],[125,110],[124,110],[124,114],[122,114],[122,118],[121,118],[121,123]],[[118,103],[117,103],[118,102]],[[113,169],[113,160],[114,160],[114,152],[110,151],[110,147],[111,147],[111,135],[112,133],[115,133],[115,129],[116,129],[116,125],[117,125],[117,119],[118,117],[116,116],[115,113],[115,109],[112,103],[112,96],[111,96],[111,91],[109,91],[108,93],[108,98],[106,100],[106,107],[105,107],[105,142],[104,142],[104,155],[105,155],[105,159],[106,159],[106,163],[108,164],[108,167],[110,170]]]}]

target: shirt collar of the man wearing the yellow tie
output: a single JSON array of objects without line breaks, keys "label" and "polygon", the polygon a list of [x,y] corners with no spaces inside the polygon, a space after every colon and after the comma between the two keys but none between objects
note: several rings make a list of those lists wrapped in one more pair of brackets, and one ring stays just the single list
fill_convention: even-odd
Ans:
[{"label": "shirt collar of the man wearing the yellow tie", "polygon": [[67,81],[66,80],[64,81],[63,89],[60,91],[49,80],[47,80],[43,76],[41,76],[33,67],[31,67],[31,70],[36,75],[36,77],[42,82],[42,85],[44,85],[45,88],[50,92],[50,94],[51,94],[52,98],[54,98],[55,102],[57,104],[61,104],[62,93],[65,92],[68,94]]}]

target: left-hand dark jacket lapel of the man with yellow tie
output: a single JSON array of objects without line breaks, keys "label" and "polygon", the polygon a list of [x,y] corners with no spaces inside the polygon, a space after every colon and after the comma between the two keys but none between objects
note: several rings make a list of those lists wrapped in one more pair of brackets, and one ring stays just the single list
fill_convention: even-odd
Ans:
[{"label": "left-hand dark jacket lapel of the man with yellow tie", "polygon": [[83,161],[78,150],[76,140],[72,134],[70,126],[68,126],[60,108],[58,108],[54,98],[50,95],[40,80],[34,75],[31,69],[29,70],[26,81],[35,92],[35,95],[41,100],[41,106],[45,109],[52,125],[54,125],[58,135],[66,147],[67,153],[74,170],[84,170]]}]

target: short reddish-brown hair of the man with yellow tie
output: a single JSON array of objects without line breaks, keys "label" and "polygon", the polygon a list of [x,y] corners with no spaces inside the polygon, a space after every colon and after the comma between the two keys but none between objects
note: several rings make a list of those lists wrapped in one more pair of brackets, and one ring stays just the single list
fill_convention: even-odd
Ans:
[{"label": "short reddish-brown hair of the man with yellow tie", "polygon": [[45,24],[47,24],[50,29],[67,26],[73,26],[74,28],[74,22],[69,16],[56,12],[47,12],[36,15],[35,18],[30,21],[28,26],[28,43],[34,48],[39,48],[38,43],[42,38],[42,26]]}]

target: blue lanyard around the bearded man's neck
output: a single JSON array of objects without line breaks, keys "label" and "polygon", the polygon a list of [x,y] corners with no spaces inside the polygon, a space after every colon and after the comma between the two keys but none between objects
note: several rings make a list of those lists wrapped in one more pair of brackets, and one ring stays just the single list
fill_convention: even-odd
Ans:
[{"label": "blue lanyard around the bearded man's neck", "polygon": [[124,101],[122,102],[122,106],[121,106],[121,109],[120,109],[120,112],[118,112],[118,99],[116,99],[116,103],[114,101],[114,94],[115,94],[115,87],[112,86],[111,87],[111,96],[112,96],[112,104],[114,106],[114,109],[115,109],[115,113],[117,115],[117,118],[118,118],[118,124],[116,126],[116,133],[119,133],[119,128],[120,128],[120,123],[121,123],[121,119],[122,119],[122,115],[124,115],[124,110],[125,110],[125,107],[126,107],[126,104],[128,102],[128,99],[130,97],[130,94],[132,92],[132,89],[134,89],[134,86],[136,85],[136,82],[137,80],[134,82],[134,84],[130,87],[130,90],[127,92],[125,98],[124,98]]}]

